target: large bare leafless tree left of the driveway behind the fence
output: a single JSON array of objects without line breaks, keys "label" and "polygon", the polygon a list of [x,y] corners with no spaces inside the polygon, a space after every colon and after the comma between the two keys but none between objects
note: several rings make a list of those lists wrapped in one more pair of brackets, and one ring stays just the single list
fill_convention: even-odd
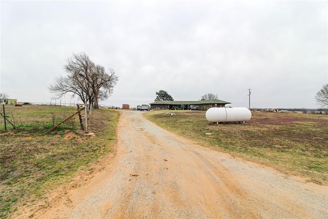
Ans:
[{"label": "large bare leafless tree left of the driveway behind the fence", "polygon": [[54,84],[48,89],[56,94],[56,98],[70,93],[72,97],[78,96],[83,103],[99,108],[99,101],[104,101],[112,93],[118,81],[113,69],[106,71],[105,67],[96,65],[84,53],[73,53],[64,65],[67,76],[55,77]]}]

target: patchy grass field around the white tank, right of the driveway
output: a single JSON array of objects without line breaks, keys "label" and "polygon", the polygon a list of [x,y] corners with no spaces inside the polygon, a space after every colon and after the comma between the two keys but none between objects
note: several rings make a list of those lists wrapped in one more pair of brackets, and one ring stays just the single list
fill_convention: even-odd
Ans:
[{"label": "patchy grass field around the white tank, right of the driveway", "polygon": [[144,116],[201,146],[328,184],[327,115],[253,112],[245,124],[214,125],[204,111],[179,111],[175,116],[166,116],[167,112],[151,111]]}]

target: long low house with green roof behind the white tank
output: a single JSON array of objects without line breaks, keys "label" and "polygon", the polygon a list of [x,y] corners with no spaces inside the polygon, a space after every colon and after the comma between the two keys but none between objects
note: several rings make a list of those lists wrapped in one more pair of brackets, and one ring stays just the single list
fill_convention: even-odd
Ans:
[{"label": "long low house with green roof behind the white tank", "polygon": [[202,101],[156,101],[150,104],[151,109],[185,109],[189,106],[196,105],[198,110],[207,110],[211,107],[224,107],[231,104],[220,99],[205,99]]}]

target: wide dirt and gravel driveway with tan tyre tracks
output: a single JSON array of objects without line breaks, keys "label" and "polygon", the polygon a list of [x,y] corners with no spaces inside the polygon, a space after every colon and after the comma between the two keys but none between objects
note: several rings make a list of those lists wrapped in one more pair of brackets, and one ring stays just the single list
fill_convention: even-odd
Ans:
[{"label": "wide dirt and gravel driveway with tan tyre tracks", "polygon": [[327,218],[328,187],[203,148],[121,111],[117,154],[34,218]]}]

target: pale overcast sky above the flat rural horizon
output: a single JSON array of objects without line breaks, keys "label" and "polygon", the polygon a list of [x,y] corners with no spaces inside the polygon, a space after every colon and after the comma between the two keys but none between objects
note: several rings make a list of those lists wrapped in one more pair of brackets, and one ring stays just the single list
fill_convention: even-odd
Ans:
[{"label": "pale overcast sky above the flat rural horizon", "polygon": [[165,90],[176,101],[213,93],[248,107],[251,89],[252,108],[318,108],[314,96],[328,83],[327,1],[1,1],[0,7],[0,91],[18,102],[49,103],[54,94],[47,87],[66,75],[73,52],[86,52],[119,76],[100,103],[106,106],[149,104]]}]

